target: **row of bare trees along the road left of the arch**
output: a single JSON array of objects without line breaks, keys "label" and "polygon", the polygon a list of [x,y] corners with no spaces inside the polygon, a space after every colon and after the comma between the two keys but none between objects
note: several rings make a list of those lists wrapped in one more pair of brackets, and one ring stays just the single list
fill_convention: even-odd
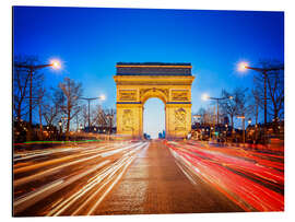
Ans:
[{"label": "row of bare trees along the road left of the arch", "polygon": [[[14,62],[34,66],[38,65],[36,57],[14,58]],[[28,122],[30,112],[33,113],[34,122],[38,125],[39,138],[43,139],[43,126],[64,127],[66,136],[70,131],[78,131],[81,128],[91,126],[114,127],[115,109],[102,108],[99,105],[92,107],[88,116],[88,107],[81,100],[83,86],[81,83],[70,78],[64,78],[56,87],[46,89],[44,85],[44,74],[35,70],[32,75],[32,87],[30,72],[24,68],[14,68],[13,71],[13,118],[14,128],[20,131],[24,128],[23,122]],[[32,97],[30,91],[32,90]],[[32,101],[32,110],[30,110]],[[109,118],[109,116],[114,118]],[[60,126],[62,124],[62,126]],[[32,127],[32,126],[31,126]],[[30,130],[30,127],[25,128]],[[34,138],[36,139],[36,138]]]}]

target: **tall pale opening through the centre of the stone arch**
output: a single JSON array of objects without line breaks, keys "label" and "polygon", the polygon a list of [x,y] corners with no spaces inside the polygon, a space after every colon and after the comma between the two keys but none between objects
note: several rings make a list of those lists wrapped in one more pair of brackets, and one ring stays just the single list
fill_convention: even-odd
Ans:
[{"label": "tall pale opening through the centre of the stone arch", "polygon": [[165,137],[165,104],[158,97],[150,97],[143,104],[143,133],[151,139]]}]

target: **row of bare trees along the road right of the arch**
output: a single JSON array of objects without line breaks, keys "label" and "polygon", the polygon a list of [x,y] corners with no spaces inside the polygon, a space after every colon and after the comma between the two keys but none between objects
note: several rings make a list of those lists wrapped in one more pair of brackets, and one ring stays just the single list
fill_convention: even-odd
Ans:
[{"label": "row of bare trees along the road right of the arch", "polygon": [[[263,61],[260,62],[260,67],[268,69],[282,67],[282,65],[278,61]],[[238,116],[251,119],[255,125],[263,119],[261,117],[264,115],[264,78],[268,122],[272,122],[275,130],[280,119],[284,118],[284,71],[269,71],[266,77],[257,72],[253,77],[252,89],[235,87],[233,91],[222,90],[221,92],[220,96],[225,100],[219,102],[220,117],[228,117],[233,129],[235,117]],[[212,107],[200,108],[196,115],[200,117],[201,124],[216,124],[216,110]]]}]

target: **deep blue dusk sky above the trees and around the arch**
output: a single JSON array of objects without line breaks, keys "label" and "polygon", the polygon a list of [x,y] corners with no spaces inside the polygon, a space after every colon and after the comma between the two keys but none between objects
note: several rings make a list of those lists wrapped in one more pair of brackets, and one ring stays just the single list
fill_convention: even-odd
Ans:
[{"label": "deep blue dusk sky above the trees and around the arch", "polygon": [[[203,93],[251,87],[255,73],[237,72],[239,61],[284,61],[283,12],[16,7],[13,27],[14,55],[62,61],[60,71],[44,70],[47,86],[69,77],[84,96],[105,94],[104,107],[116,107],[119,61],[191,62],[192,112],[210,104]],[[163,125],[158,103],[148,101],[145,120]]]}]

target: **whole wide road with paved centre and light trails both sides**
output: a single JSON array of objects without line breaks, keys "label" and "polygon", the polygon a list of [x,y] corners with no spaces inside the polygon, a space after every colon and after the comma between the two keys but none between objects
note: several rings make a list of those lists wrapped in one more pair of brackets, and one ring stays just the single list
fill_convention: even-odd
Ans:
[{"label": "whole wide road with paved centre and light trails both sides", "polygon": [[13,157],[13,215],[282,211],[283,160],[175,141],[26,149]]}]

